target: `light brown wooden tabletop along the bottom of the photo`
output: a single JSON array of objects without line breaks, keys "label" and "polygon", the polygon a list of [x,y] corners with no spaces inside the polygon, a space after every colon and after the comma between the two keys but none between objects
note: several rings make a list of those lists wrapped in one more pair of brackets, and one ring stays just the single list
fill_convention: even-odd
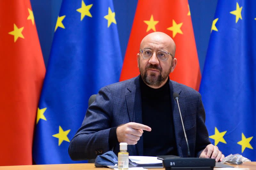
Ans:
[{"label": "light brown wooden tabletop along the bottom of the photo", "polygon": [[[249,168],[256,170],[256,162],[246,162],[242,165],[236,165],[236,168]],[[106,168],[96,168],[94,164],[55,164],[55,165],[20,165],[20,166],[0,166],[0,170],[77,170],[77,169],[88,169],[88,170],[108,170]],[[149,169],[149,170],[163,170]],[[110,170],[110,169],[109,169]]]}]

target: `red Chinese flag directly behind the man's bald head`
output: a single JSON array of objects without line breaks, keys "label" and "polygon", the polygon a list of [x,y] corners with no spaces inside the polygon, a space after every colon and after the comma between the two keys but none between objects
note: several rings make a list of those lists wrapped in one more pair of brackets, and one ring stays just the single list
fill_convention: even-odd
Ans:
[{"label": "red Chinese flag directly behind the man's bald head", "polygon": [[139,74],[136,54],[148,33],[160,31],[176,43],[177,66],[170,79],[198,91],[201,80],[196,43],[187,0],[139,0],[120,81]]}]

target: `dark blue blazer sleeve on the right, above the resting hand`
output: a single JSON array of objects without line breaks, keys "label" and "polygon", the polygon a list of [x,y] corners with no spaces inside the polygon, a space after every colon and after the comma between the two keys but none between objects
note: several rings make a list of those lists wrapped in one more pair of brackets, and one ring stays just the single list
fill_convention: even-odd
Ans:
[{"label": "dark blue blazer sleeve on the right, above the resting hand", "polygon": [[205,126],[205,111],[202,102],[202,96],[199,93],[199,99],[197,103],[197,113],[196,113],[196,148],[195,153],[197,157],[200,156],[204,148],[211,144],[209,140],[209,134]]}]

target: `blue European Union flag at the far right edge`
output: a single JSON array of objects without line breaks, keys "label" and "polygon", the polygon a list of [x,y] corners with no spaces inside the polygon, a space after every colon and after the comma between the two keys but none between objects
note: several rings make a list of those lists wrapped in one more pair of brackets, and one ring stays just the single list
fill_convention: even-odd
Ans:
[{"label": "blue European Union flag at the far right edge", "polygon": [[206,126],[225,154],[256,161],[256,1],[218,1],[200,93]]}]

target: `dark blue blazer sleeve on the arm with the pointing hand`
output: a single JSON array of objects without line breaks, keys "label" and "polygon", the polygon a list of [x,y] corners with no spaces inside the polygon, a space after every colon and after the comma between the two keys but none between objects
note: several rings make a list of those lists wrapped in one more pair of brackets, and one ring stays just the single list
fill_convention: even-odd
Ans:
[{"label": "dark blue blazer sleeve on the arm with the pointing hand", "polygon": [[72,160],[95,159],[109,151],[108,135],[112,118],[111,92],[100,89],[95,101],[87,109],[84,121],[69,144]]}]

